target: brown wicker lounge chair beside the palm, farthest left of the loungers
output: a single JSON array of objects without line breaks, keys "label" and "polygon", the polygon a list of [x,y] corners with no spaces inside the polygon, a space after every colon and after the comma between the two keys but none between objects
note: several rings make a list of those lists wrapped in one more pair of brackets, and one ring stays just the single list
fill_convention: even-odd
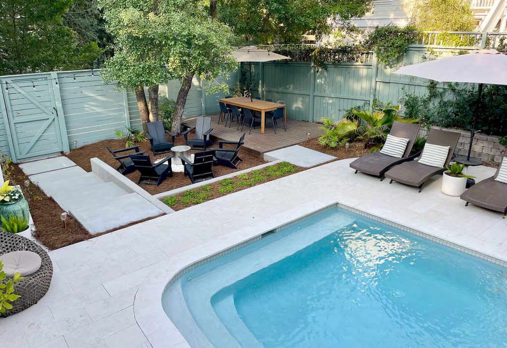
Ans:
[{"label": "brown wicker lounge chair beside the palm, farthest left of the loungers", "polygon": [[384,180],[384,173],[396,164],[413,160],[417,154],[410,156],[412,147],[417,138],[420,126],[418,124],[411,124],[406,122],[394,121],[389,134],[409,138],[405,153],[401,158],[384,155],[380,152],[372,152],[367,155],[361,156],[354,160],[349,166],[357,171],[380,177],[380,181]]}]

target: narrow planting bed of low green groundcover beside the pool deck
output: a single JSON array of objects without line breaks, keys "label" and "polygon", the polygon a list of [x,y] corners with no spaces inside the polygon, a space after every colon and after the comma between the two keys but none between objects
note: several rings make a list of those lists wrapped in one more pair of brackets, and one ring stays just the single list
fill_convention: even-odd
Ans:
[{"label": "narrow planting bed of low green groundcover beside the pool deck", "polygon": [[266,183],[271,180],[285,177],[297,171],[304,170],[288,162],[280,162],[249,173],[242,173],[231,179],[224,179],[210,185],[201,186],[194,190],[187,190],[175,196],[169,196],[162,201],[174,210],[182,210],[191,205],[225,196],[229,193],[241,191],[246,188]]}]

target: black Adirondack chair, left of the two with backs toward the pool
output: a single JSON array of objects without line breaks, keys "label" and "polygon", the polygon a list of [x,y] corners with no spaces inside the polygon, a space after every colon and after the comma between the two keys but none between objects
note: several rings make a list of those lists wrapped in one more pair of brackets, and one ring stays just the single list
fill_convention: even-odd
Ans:
[{"label": "black Adirondack chair, left of the two with backs toward the pool", "polygon": [[150,184],[159,186],[165,178],[168,176],[172,177],[171,158],[173,157],[174,155],[170,155],[160,162],[152,164],[150,155],[130,155],[130,159],[134,162],[135,168],[141,175],[137,185]]}]

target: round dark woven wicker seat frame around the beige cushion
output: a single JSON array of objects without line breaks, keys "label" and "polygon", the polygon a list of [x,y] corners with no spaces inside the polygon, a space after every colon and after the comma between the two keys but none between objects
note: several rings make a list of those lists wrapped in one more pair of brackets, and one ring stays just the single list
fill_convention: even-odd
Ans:
[{"label": "round dark woven wicker seat frame around the beige cushion", "polygon": [[[53,264],[48,253],[37,243],[28,238],[13,233],[0,231],[0,255],[13,251],[31,251],[37,253],[41,259],[41,268],[35,273],[27,275],[24,279],[14,284],[14,293],[21,297],[12,302],[12,309],[7,309],[2,317],[7,317],[20,312],[39,300],[48,292],[53,276]],[[7,282],[4,280],[4,282]]]}]

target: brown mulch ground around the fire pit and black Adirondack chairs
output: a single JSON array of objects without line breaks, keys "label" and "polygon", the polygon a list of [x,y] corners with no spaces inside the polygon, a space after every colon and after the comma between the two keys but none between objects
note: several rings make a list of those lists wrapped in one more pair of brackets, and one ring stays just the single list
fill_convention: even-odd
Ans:
[{"label": "brown mulch ground around the fire pit and black Adirondack chairs", "polygon": [[[192,135],[191,135],[192,136]],[[107,144],[112,150],[122,149],[125,147],[125,142],[122,140],[104,140],[98,143],[90,144],[83,146],[78,149],[70,150],[70,153],[67,154],[67,158],[69,158],[71,161],[74,161],[77,165],[79,165],[81,168],[85,169],[86,171],[91,171],[91,165],[90,165],[90,158],[97,157],[103,162],[107,163],[108,165],[114,167],[115,169],[118,167],[119,163],[117,160],[113,158],[111,153],[107,151],[104,144]],[[145,153],[150,155],[150,158],[153,161],[158,158],[164,158],[170,153],[162,154],[153,156],[153,153],[150,151],[150,142],[146,141],[144,143],[137,144],[139,145],[139,151],[144,151]],[[174,146],[178,145],[185,145],[185,139],[183,136],[178,136],[175,139]],[[218,143],[215,143],[211,146],[211,148],[218,148]],[[196,153],[199,151],[192,151],[192,153]],[[223,165],[218,165],[213,167],[213,173],[215,177],[220,177],[229,173],[232,173],[234,171],[243,170],[251,167],[255,167],[257,165],[266,163],[264,159],[250,155],[247,152],[244,152],[240,150],[239,157],[243,159],[242,162],[239,163],[238,169],[231,169],[228,167],[225,167]],[[130,173],[126,175],[126,178],[133,181],[135,184],[137,184],[137,181],[139,180],[139,173],[137,171]],[[162,184],[159,186],[155,185],[146,185],[141,184],[140,187],[142,187],[144,190],[148,191],[150,194],[156,194],[161,192],[170,191],[179,187],[191,185],[191,181],[189,177],[184,177],[183,172],[174,172],[172,178],[167,178],[164,180]]]}]

